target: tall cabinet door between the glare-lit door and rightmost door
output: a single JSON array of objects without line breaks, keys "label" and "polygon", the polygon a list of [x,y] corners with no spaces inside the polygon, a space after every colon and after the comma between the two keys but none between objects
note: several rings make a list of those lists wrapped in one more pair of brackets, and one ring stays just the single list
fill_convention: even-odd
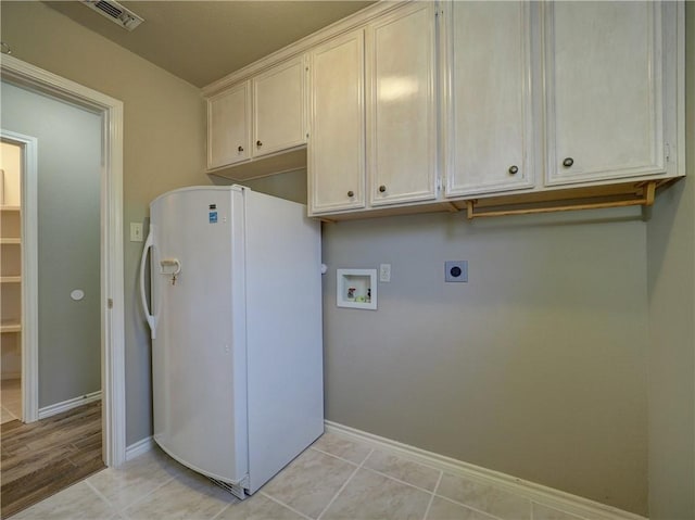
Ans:
[{"label": "tall cabinet door between the glare-lit door and rightmost door", "polygon": [[533,186],[530,9],[525,1],[446,4],[446,195]]}]

